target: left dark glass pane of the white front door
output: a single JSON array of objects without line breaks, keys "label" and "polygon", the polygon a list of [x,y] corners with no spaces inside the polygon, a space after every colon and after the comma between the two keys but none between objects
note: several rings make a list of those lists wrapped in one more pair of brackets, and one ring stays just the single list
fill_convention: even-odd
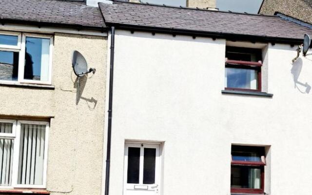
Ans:
[{"label": "left dark glass pane of the white front door", "polygon": [[128,148],[127,183],[138,183],[140,172],[140,148]]}]

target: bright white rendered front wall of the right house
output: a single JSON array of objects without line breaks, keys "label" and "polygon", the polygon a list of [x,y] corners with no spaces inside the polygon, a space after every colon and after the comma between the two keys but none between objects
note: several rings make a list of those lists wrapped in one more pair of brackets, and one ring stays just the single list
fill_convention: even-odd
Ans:
[{"label": "bright white rendered front wall of the right house", "polygon": [[111,195],[123,193],[125,140],[162,143],[160,195],[230,195],[231,144],[267,146],[266,193],[311,194],[312,57],[292,64],[295,47],[269,43],[273,98],[225,95],[225,46],[116,31]]}]

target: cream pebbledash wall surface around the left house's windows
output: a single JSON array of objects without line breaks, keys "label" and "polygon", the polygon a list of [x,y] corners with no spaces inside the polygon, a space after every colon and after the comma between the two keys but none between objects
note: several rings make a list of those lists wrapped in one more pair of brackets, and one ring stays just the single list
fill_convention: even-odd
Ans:
[{"label": "cream pebbledash wall surface around the left house's windows", "polygon": [[[78,50],[92,78],[80,81],[76,106],[76,76],[72,52]],[[53,76],[55,89],[0,85],[0,115],[52,117],[49,132],[47,190],[51,195],[100,195],[104,139],[107,38],[56,33]],[[91,77],[89,74],[88,77]]]}]

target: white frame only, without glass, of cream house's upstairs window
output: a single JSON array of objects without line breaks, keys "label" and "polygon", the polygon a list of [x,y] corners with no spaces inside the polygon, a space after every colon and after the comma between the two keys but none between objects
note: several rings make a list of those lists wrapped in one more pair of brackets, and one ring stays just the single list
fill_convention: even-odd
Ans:
[{"label": "white frame only, without glass, of cream house's upstairs window", "polygon": [[[35,33],[20,33],[20,32],[10,32],[10,31],[0,31],[0,35],[14,35],[18,36],[18,45],[0,45],[0,51],[13,51],[19,52],[19,72],[18,72],[18,80],[0,80],[0,83],[30,83],[30,84],[42,84],[42,85],[51,85],[52,84],[52,61],[53,61],[53,44],[54,38],[53,35],[43,35],[43,34],[35,34]],[[49,45],[49,72],[48,72],[48,80],[30,80],[24,79],[24,66],[25,66],[25,52],[26,52],[26,37],[33,38],[43,38],[50,39]]]}]

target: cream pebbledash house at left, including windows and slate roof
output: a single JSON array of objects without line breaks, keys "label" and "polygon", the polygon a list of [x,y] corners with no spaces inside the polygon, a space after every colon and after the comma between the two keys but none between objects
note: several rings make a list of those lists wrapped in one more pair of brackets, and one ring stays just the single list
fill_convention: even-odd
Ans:
[{"label": "cream pebbledash house at left, including windows and slate roof", "polygon": [[[0,22],[0,194],[99,195],[107,63],[99,8],[1,0]],[[74,50],[97,70],[79,89]]]}]

